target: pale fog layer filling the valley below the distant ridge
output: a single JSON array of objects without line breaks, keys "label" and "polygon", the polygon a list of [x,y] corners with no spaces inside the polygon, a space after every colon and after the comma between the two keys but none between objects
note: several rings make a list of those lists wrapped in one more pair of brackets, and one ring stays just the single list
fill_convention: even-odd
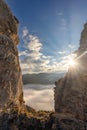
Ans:
[{"label": "pale fog layer filling the valley below the distant ridge", "polygon": [[36,110],[54,110],[54,87],[54,85],[24,85],[24,100],[26,104]]}]

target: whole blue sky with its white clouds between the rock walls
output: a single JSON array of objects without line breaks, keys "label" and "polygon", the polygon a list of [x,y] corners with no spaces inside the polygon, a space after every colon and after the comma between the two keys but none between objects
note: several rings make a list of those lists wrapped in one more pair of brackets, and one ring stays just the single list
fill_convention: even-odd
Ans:
[{"label": "whole blue sky with its white clouds between the rock walls", "polygon": [[6,0],[19,19],[22,73],[67,70],[87,22],[87,0]]}]

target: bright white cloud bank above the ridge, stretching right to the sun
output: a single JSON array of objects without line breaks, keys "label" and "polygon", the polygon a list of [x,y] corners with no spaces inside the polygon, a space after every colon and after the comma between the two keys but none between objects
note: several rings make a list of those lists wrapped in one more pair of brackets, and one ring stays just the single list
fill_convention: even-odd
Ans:
[{"label": "bright white cloud bank above the ridge, stretching right to the sun", "polygon": [[[29,34],[27,27],[22,31],[24,41],[24,51],[19,52],[22,73],[43,73],[66,71],[70,54],[68,50],[56,52],[58,57],[45,55],[42,53],[43,44],[37,36]],[[73,46],[68,45],[69,48]],[[56,56],[57,56],[56,55]]]}]

